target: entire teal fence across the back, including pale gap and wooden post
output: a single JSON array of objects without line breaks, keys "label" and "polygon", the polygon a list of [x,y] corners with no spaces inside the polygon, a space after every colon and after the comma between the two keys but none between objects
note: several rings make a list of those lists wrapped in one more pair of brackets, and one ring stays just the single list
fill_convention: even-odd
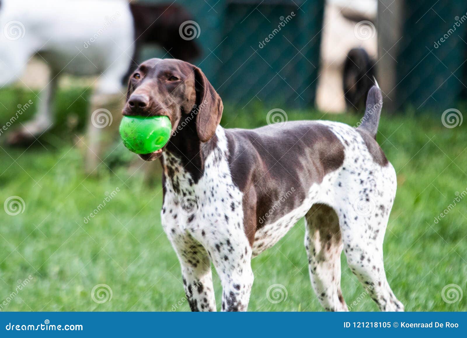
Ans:
[{"label": "entire teal fence across the back, including pale gap and wooden post", "polygon": [[[364,48],[373,59],[386,109],[438,112],[467,98],[466,1],[177,0],[177,4],[193,15],[191,28],[203,49],[195,63],[224,101],[242,108],[266,101],[283,107],[317,103],[324,111],[344,110],[342,71],[352,47]],[[326,14],[330,8],[332,15]],[[159,54],[170,57],[170,51]]]}]

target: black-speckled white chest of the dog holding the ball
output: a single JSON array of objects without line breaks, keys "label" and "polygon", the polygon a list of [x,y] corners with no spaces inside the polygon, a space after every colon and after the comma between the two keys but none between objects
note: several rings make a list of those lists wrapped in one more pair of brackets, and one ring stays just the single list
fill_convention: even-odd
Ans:
[{"label": "black-speckled white chest of the dog holding the ball", "polygon": [[161,216],[171,240],[186,235],[202,240],[223,232],[243,233],[242,193],[232,181],[227,140],[221,127],[216,136],[217,144],[205,159],[203,175],[196,183],[180,159],[163,154],[166,193]]}]

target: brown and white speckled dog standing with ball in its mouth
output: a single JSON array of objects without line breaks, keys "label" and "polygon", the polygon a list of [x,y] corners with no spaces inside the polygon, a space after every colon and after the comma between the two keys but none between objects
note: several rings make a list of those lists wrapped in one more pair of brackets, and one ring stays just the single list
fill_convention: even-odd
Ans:
[{"label": "brown and white speckled dog standing with ball in its mouth", "polygon": [[396,173],[375,141],[379,87],[371,88],[357,129],[328,121],[224,129],[222,101],[204,73],[174,59],[140,65],[127,97],[123,115],[165,115],[172,124],[168,144],[141,157],[161,159],[162,224],[193,311],[216,310],[211,262],[222,283],[222,310],[247,310],[252,257],[301,217],[311,282],[326,310],[347,310],[342,249],[380,309],[403,310],[383,266]]}]

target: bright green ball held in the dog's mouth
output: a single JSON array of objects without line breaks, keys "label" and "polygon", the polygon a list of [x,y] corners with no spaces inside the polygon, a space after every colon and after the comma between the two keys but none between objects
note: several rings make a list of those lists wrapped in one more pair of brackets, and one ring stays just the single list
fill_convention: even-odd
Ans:
[{"label": "bright green ball held in the dog's mouth", "polygon": [[171,130],[167,116],[123,116],[120,123],[123,144],[136,154],[161,149],[169,141]]}]

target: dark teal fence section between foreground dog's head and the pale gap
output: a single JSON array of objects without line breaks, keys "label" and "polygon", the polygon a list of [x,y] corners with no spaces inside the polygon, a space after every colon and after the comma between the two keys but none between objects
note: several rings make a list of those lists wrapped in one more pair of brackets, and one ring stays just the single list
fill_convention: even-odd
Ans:
[{"label": "dark teal fence section between foreground dog's head and the pale gap", "polygon": [[[152,1],[161,2],[161,1]],[[179,0],[193,16],[203,69],[222,99],[304,108],[314,104],[324,0]],[[193,34],[193,35],[192,35]],[[170,51],[165,57],[170,57]]]}]

